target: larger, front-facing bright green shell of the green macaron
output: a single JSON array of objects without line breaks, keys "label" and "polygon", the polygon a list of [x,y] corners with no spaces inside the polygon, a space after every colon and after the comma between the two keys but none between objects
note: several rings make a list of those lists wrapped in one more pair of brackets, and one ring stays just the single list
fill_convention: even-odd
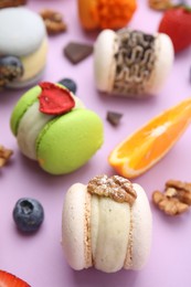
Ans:
[{"label": "larger, front-facing bright green shell of the green macaron", "polygon": [[45,171],[68,173],[87,162],[102,144],[100,118],[92,110],[75,109],[45,125],[36,139],[36,157]]}]

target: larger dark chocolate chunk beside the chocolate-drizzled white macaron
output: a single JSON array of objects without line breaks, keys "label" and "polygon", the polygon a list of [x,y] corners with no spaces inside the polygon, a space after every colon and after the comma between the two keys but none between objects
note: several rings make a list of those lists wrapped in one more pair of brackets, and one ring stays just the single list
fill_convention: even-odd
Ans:
[{"label": "larger dark chocolate chunk beside the chocolate-drizzled white macaron", "polygon": [[89,45],[89,44],[70,42],[64,47],[65,56],[73,64],[77,64],[78,62],[83,61],[84,59],[86,59],[92,53],[93,53],[93,45]]}]

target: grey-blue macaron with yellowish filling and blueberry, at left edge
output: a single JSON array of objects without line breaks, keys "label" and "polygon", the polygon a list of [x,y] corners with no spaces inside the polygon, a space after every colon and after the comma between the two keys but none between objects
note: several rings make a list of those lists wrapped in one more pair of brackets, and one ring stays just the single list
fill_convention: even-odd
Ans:
[{"label": "grey-blue macaron with yellowish filling and blueberry, at left edge", "polygon": [[0,10],[0,87],[36,84],[47,54],[42,18],[23,7]]}]

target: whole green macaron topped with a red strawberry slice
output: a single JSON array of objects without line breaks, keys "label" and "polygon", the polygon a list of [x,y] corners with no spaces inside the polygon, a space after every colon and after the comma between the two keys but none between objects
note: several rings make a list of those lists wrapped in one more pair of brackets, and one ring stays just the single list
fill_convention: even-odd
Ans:
[{"label": "whole green macaron topped with a red strawberry slice", "polygon": [[11,130],[21,152],[52,174],[65,174],[85,164],[102,147],[103,123],[71,91],[40,83],[18,102]]}]

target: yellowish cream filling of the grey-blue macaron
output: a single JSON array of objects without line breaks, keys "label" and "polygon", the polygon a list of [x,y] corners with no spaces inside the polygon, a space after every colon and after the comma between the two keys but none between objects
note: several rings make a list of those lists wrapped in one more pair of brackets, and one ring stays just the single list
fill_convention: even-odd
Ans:
[{"label": "yellowish cream filling of the grey-blue macaron", "polygon": [[47,54],[47,41],[44,38],[40,47],[32,54],[21,57],[24,74],[17,82],[25,82],[39,74],[45,66]]}]

